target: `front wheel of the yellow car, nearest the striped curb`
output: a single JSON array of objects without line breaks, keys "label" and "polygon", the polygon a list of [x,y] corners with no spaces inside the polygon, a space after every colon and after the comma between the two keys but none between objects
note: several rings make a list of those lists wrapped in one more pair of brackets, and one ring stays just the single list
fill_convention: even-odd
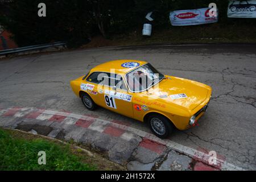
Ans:
[{"label": "front wheel of the yellow car, nearest the striped curb", "polygon": [[[152,133],[154,133],[156,137],[159,137],[162,139],[167,138],[172,133],[172,131],[174,131],[174,125],[172,125],[171,121],[160,114],[151,114],[147,118],[147,123]],[[164,127],[164,130],[163,129],[161,130],[161,128],[163,127]],[[157,128],[159,129],[159,132],[157,132]],[[162,131],[162,133],[160,131]]]}]

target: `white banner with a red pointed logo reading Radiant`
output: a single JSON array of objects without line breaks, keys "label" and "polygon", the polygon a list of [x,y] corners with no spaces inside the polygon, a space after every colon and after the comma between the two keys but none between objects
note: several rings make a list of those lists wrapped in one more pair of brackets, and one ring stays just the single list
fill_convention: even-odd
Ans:
[{"label": "white banner with a red pointed logo reading Radiant", "polygon": [[171,11],[171,24],[172,26],[188,26],[218,22],[218,12],[216,11],[215,16],[210,16],[209,11],[208,7],[196,10]]}]

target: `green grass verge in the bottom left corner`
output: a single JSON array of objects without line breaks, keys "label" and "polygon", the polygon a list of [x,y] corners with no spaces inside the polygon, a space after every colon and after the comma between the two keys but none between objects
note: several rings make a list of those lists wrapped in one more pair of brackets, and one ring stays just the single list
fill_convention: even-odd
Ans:
[{"label": "green grass verge in the bottom left corner", "polygon": [[[39,165],[39,151],[46,152],[46,165]],[[118,164],[80,148],[39,135],[0,129],[0,171],[9,170],[122,170]]]}]

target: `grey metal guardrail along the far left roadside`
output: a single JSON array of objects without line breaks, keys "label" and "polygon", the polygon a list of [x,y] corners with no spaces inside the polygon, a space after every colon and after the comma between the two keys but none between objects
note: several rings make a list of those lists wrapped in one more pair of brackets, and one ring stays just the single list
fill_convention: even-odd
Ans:
[{"label": "grey metal guardrail along the far left roadside", "polygon": [[26,52],[26,51],[35,51],[35,50],[41,50],[51,47],[58,47],[58,46],[67,46],[65,42],[55,42],[55,43],[49,43],[49,44],[40,44],[35,46],[27,46],[27,47],[19,47],[14,49],[5,49],[0,51],[0,55],[9,55],[12,53],[19,53],[19,52]]}]

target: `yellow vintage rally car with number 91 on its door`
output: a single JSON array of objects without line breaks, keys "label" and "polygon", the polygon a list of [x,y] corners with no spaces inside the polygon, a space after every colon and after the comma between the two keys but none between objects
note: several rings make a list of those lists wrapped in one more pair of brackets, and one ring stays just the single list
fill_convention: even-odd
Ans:
[{"label": "yellow vintage rally car with number 91 on its door", "polygon": [[100,64],[72,80],[71,87],[87,109],[101,106],[147,122],[159,138],[166,138],[174,127],[195,126],[212,94],[208,85],[163,75],[150,63],[138,60]]}]

